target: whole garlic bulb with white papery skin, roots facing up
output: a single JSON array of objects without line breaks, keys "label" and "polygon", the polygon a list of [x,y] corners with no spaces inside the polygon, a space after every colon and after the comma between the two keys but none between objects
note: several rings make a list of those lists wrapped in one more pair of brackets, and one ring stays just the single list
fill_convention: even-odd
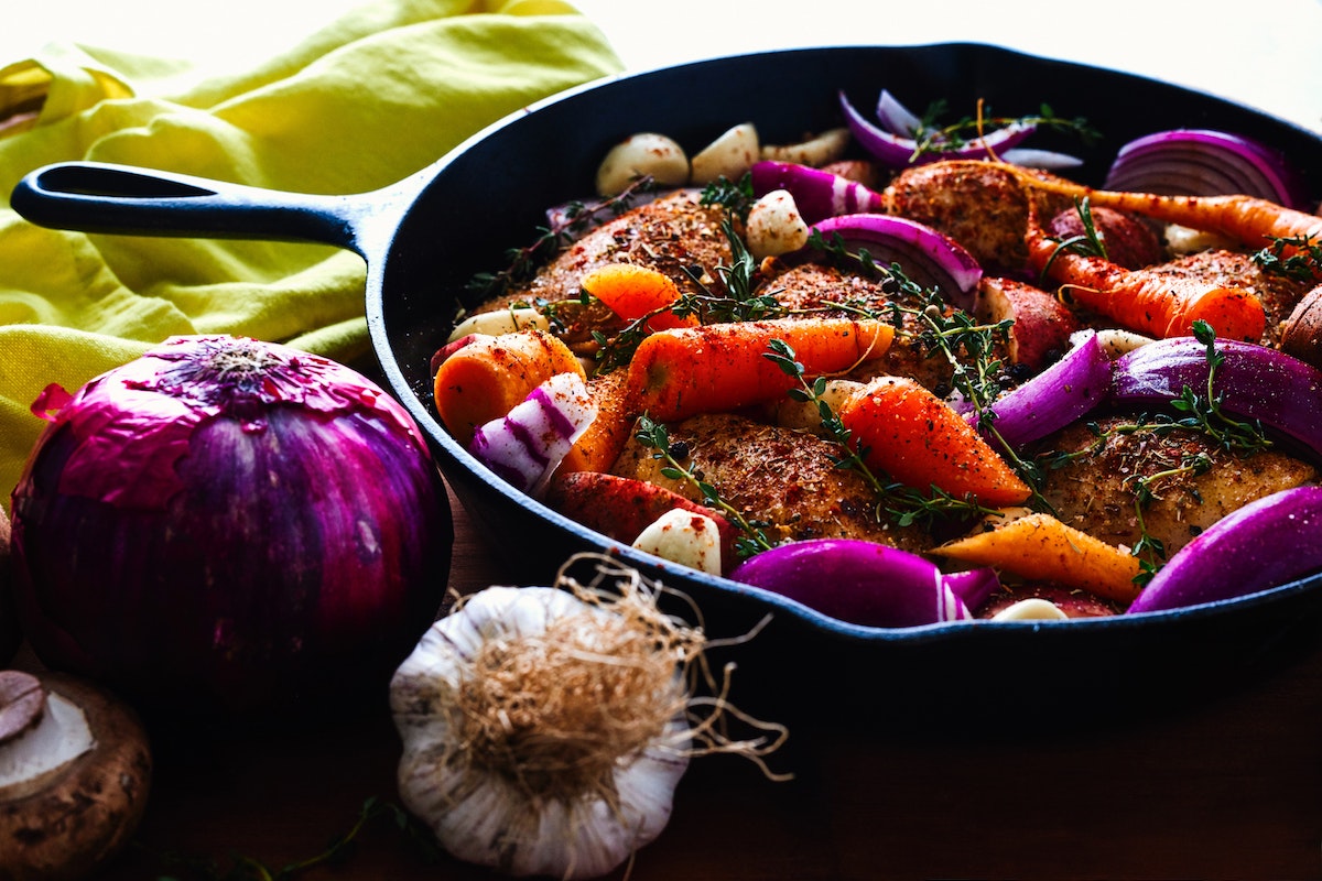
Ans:
[{"label": "whole garlic bulb with white papery skin, roots facing up", "polygon": [[[514,876],[592,878],[665,828],[691,745],[681,658],[661,650],[658,676],[594,691],[637,668],[639,658],[616,652],[629,643],[627,619],[568,590],[488,588],[434,623],[401,664],[390,687],[403,741],[399,795],[451,855]],[[645,630],[637,645],[657,651]],[[553,687],[520,692],[538,674]],[[501,691],[484,689],[488,676],[506,676],[520,693],[477,701]],[[598,724],[629,705],[650,708],[656,725],[636,749],[604,752],[611,732]],[[525,750],[567,761],[554,767]],[[600,773],[583,770],[603,757]]]}]

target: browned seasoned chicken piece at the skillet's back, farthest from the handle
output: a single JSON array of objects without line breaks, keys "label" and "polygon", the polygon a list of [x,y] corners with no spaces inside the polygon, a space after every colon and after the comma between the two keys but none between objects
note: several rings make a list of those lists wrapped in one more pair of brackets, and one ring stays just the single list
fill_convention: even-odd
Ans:
[{"label": "browned seasoned chicken piece at the skillet's back, farthest from the handle", "polygon": [[[945,232],[988,272],[1013,275],[1027,265],[1029,195],[1013,172],[992,162],[916,165],[900,172],[886,195],[894,214]],[[1035,198],[1039,217],[1069,206],[1059,195]]]}]

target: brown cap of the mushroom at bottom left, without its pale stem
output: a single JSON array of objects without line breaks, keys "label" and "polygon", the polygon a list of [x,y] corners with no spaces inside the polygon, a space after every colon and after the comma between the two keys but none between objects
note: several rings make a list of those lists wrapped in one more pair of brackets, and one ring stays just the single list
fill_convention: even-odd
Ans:
[{"label": "brown cap of the mushroom at bottom left, without its pale stem", "polygon": [[91,874],[137,828],[151,789],[147,732],[131,707],[82,680],[36,674],[77,704],[95,746],[36,785],[0,789],[0,878],[73,881]]}]

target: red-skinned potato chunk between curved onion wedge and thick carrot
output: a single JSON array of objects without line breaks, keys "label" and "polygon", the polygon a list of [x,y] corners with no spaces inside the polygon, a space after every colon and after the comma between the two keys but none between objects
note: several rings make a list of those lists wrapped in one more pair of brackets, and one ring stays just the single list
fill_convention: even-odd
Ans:
[{"label": "red-skinned potato chunk between curved onion wedge and thick carrot", "polygon": [[974,306],[978,321],[1010,318],[1010,361],[1039,371],[1069,349],[1079,318],[1056,297],[1025,281],[984,276]]}]

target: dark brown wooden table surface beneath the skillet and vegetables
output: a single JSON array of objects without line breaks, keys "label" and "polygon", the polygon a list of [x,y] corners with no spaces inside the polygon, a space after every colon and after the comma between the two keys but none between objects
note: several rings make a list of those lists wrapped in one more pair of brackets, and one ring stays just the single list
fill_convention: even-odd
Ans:
[{"label": "dark brown wooden table surface beneath the skillet and vegetables", "polygon": [[[456,512],[452,584],[501,582]],[[699,758],[633,881],[674,878],[1322,877],[1322,647],[1249,687],[1099,729],[792,732],[772,758]],[[319,853],[369,798],[398,804],[399,742],[385,708],[316,725],[156,742],[134,847],[107,880],[204,877],[164,853],[235,855],[272,869]],[[439,864],[373,820],[333,866],[299,877],[493,878]],[[215,876],[213,876],[215,877]],[[242,876],[253,877],[253,876]]]}]

